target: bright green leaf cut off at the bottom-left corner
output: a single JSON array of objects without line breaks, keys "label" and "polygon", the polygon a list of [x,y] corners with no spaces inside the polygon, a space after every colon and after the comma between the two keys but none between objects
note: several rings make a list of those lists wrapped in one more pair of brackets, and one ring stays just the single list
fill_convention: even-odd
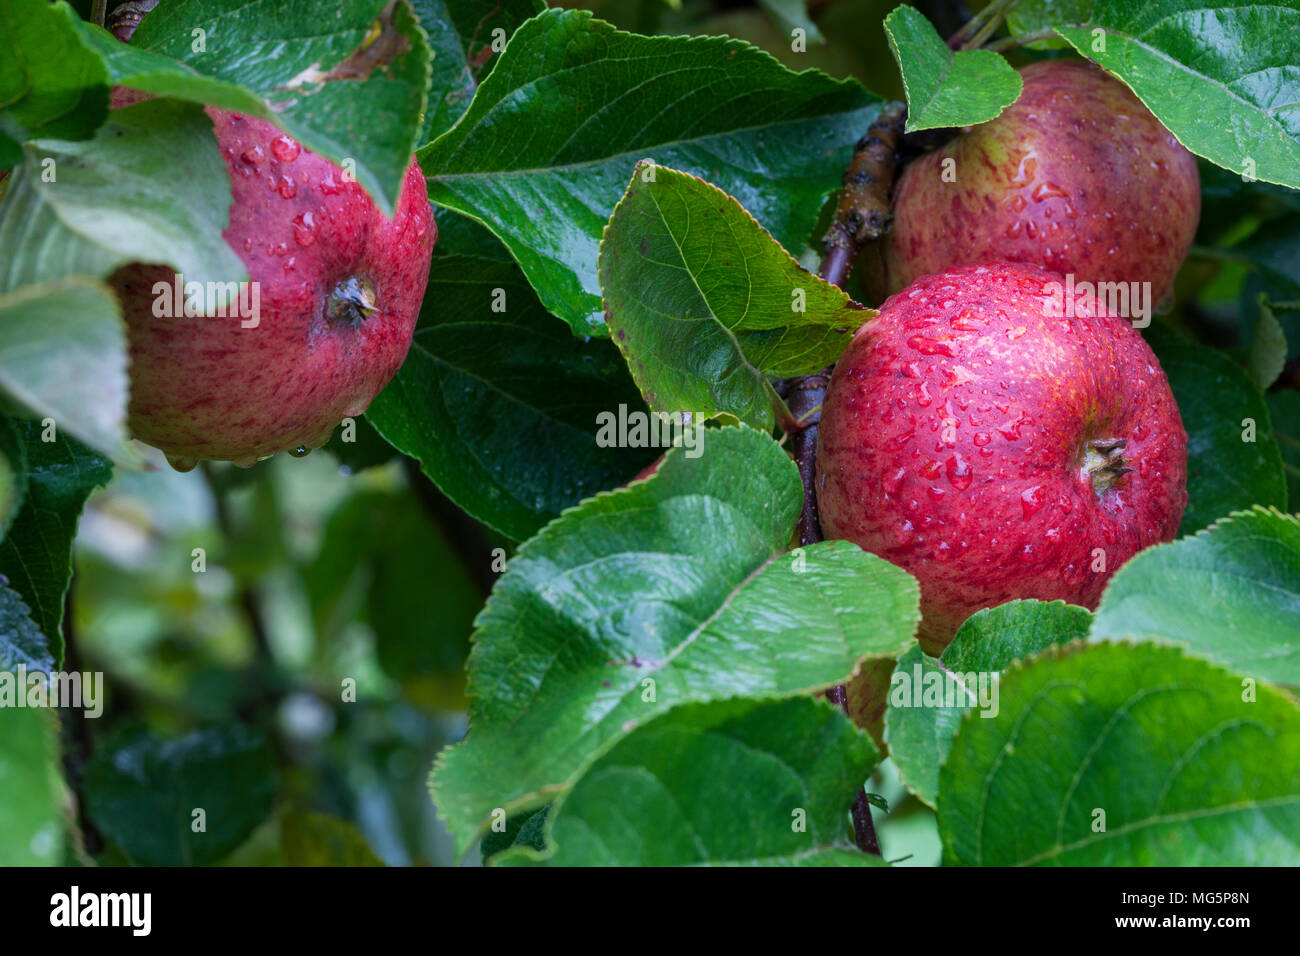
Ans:
[{"label": "bright green leaf cut off at the bottom-left corner", "polygon": [[0,708],[0,866],[57,866],[62,782],[48,710]]}]

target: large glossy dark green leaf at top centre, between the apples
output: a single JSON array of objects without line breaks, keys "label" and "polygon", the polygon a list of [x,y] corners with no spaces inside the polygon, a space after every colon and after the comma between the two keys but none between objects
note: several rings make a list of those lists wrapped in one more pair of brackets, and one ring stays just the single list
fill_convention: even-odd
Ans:
[{"label": "large glossy dark green leaf at top centre, between the apples", "polygon": [[879,107],[740,40],[638,36],[551,9],[515,33],[420,165],[430,198],[500,237],[549,311],[604,334],[597,247],[638,160],[708,179],[802,250]]}]

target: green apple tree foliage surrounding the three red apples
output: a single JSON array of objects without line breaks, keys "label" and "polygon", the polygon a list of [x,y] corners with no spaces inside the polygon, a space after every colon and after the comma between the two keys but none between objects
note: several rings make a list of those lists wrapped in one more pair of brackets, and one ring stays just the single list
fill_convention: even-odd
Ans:
[{"label": "green apple tree foliage surrounding the three red apples", "polygon": [[[862,0],[592,7],[162,0],[122,44],[0,0],[0,676],[108,683],[103,726],[0,693],[0,862],[883,865],[902,813],[935,862],[1300,862],[1300,4],[1020,0],[954,44]],[[858,38],[897,73],[850,75]],[[888,94],[980,124],[1043,56],[1201,161],[1144,333],[1190,505],[1096,611],[1013,601],[931,657],[909,574],[796,546],[776,381],[879,304],[812,271]],[[441,238],[364,419],[200,477],[129,442],[105,278],[247,277],[207,105],[385,209],[415,153]],[[703,441],[638,480],[662,449],[599,440],[682,408]]]}]

